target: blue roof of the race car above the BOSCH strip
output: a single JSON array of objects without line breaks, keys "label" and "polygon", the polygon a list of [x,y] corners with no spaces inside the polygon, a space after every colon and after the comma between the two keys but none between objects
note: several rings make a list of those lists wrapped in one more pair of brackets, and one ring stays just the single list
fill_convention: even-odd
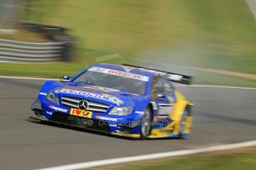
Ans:
[{"label": "blue roof of the race car above the BOSCH strip", "polygon": [[154,78],[154,76],[155,76],[155,74],[153,72],[147,72],[140,68],[127,67],[127,66],[117,65],[117,64],[95,64],[93,67],[102,67],[105,69],[115,69],[115,70],[122,71],[122,72],[130,72],[130,73],[134,73],[137,75],[148,76],[149,78]]}]

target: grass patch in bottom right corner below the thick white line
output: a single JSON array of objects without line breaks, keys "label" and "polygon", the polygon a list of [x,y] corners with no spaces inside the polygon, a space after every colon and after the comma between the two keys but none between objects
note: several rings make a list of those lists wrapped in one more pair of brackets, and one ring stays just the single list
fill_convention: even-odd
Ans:
[{"label": "grass patch in bottom right corner below the thick white line", "polygon": [[256,149],[243,151],[228,151],[214,154],[196,154],[186,157],[172,157],[163,160],[148,160],[137,163],[128,163],[117,166],[105,166],[97,169],[123,169],[123,170],[255,170]]}]

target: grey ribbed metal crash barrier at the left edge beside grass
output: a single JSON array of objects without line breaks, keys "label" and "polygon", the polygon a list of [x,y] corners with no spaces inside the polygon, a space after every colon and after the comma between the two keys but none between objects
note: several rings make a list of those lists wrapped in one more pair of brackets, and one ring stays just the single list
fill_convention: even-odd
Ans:
[{"label": "grey ribbed metal crash barrier at the left edge beside grass", "polygon": [[63,42],[31,43],[0,38],[0,63],[28,63],[63,60]]}]

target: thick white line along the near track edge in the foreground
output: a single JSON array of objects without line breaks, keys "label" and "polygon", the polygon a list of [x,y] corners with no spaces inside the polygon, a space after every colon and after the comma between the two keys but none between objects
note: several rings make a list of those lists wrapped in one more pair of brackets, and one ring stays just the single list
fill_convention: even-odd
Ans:
[{"label": "thick white line along the near track edge in the foreground", "polygon": [[243,147],[249,147],[249,146],[256,146],[256,140],[243,142],[243,143],[234,143],[234,144],[226,144],[226,145],[220,145],[220,146],[211,146],[201,149],[186,149],[186,150],[180,150],[180,151],[174,151],[174,152],[163,152],[163,153],[157,153],[157,154],[143,154],[139,156],[133,156],[133,157],[119,157],[114,159],[108,159],[108,160],[96,160],[91,162],[85,162],[85,163],[73,163],[70,165],[65,166],[55,166],[45,169],[38,169],[38,170],[75,170],[75,169],[88,169],[93,168],[97,166],[108,166],[113,165],[117,163],[130,163],[134,161],[141,161],[141,160],[154,160],[154,159],[160,159],[163,157],[177,157],[177,156],[183,156],[187,154],[199,154],[203,152],[217,152],[217,151],[223,151],[228,149],[238,149]]}]

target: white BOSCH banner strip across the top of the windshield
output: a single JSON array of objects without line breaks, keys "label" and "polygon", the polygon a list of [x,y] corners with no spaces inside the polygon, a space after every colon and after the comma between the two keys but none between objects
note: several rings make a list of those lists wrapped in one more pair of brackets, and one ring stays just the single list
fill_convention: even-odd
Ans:
[{"label": "white BOSCH banner strip across the top of the windshield", "polygon": [[102,67],[91,67],[91,69],[88,69],[89,71],[93,71],[93,72],[103,72],[106,74],[110,74],[110,75],[119,75],[122,77],[126,77],[126,78],[134,78],[140,81],[148,81],[148,77],[145,75],[137,75],[131,72],[122,72],[122,71],[118,71],[115,69],[105,69]]}]

